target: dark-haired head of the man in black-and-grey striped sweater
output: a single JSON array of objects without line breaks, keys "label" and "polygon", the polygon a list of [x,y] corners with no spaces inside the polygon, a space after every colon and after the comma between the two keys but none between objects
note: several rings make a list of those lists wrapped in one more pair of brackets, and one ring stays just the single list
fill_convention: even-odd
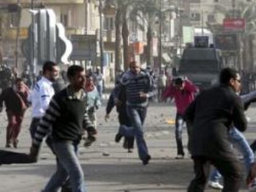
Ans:
[{"label": "dark-haired head of the man in black-and-grey striped sweater", "polygon": [[67,78],[69,78],[70,85],[76,90],[85,87],[85,70],[79,65],[72,65],[67,69]]}]

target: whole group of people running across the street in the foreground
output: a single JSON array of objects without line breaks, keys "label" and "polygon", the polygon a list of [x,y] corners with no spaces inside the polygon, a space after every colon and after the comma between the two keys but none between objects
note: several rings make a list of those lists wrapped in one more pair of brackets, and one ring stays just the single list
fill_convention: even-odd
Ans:
[{"label": "whole group of people running across the street in the foreground", "polygon": [[[119,129],[114,140],[118,143],[124,137],[123,146],[128,152],[133,152],[136,141],[139,159],[147,165],[151,154],[144,138],[143,124],[150,98],[157,97],[160,102],[174,99],[176,159],[185,156],[182,131],[186,127],[187,149],[194,162],[195,178],[188,191],[204,191],[207,183],[211,188],[225,192],[239,191],[242,164],[234,151],[234,144],[244,156],[249,190],[253,191],[256,190],[256,141],[250,146],[241,132],[247,128],[244,111],[256,101],[256,92],[239,95],[241,80],[236,70],[226,68],[220,73],[219,85],[200,93],[186,77],[171,79],[160,72],[155,79],[138,62],[130,62],[130,69],[116,78],[106,106],[105,120],[108,121],[116,106]],[[92,70],[85,72],[83,67],[72,65],[66,73],[60,73],[59,65],[51,61],[45,62],[33,87],[17,77],[12,86],[2,90],[0,111],[5,106],[8,119],[6,148],[19,146],[23,115],[31,106],[32,146],[29,156],[38,161],[44,138],[56,156],[56,172],[43,192],[59,188],[65,192],[87,191],[78,157],[79,143],[84,139],[83,145],[89,147],[96,141],[96,111],[101,106],[102,91],[100,69],[95,73]],[[210,165],[215,167],[211,174]]]}]

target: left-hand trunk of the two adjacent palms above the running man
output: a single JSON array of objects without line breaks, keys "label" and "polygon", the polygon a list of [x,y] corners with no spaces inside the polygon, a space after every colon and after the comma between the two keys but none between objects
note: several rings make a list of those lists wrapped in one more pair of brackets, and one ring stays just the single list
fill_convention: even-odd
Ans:
[{"label": "left-hand trunk of the two adjacent palms above the running man", "polygon": [[114,67],[115,67],[115,77],[117,70],[121,69],[121,9],[120,7],[116,10],[116,20],[115,20],[115,27],[116,27],[116,42],[115,42],[115,61],[114,61]]}]

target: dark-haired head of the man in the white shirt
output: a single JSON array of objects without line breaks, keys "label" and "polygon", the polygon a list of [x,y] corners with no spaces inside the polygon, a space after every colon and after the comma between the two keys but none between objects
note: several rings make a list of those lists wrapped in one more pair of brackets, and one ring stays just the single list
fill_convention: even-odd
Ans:
[{"label": "dark-haired head of the man in the white shirt", "polygon": [[56,80],[59,76],[59,66],[52,61],[46,61],[43,65],[43,76],[50,81]]}]

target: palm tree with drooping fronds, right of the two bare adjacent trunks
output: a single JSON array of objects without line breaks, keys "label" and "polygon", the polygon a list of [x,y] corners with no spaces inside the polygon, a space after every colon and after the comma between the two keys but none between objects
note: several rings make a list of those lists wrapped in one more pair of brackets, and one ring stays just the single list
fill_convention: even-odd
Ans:
[{"label": "palm tree with drooping fronds, right of the two bare adjacent trunks", "polygon": [[134,9],[130,13],[132,20],[138,20],[140,28],[147,28],[147,66],[153,64],[152,54],[152,38],[153,29],[159,17],[158,1],[155,0],[137,0],[134,4]]}]

